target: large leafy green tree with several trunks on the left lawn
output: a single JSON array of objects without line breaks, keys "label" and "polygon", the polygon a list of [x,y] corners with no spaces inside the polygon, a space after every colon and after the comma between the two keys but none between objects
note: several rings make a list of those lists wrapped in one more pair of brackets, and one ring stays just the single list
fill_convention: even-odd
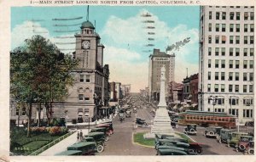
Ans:
[{"label": "large leafy green tree with several trunks on the left lawn", "polygon": [[52,102],[67,96],[67,87],[73,85],[73,70],[78,61],[60,50],[43,36],[32,36],[25,45],[10,53],[11,89],[27,105],[27,136],[30,136],[32,105],[38,104],[38,126],[42,105],[46,107],[48,123],[52,116]]}]

